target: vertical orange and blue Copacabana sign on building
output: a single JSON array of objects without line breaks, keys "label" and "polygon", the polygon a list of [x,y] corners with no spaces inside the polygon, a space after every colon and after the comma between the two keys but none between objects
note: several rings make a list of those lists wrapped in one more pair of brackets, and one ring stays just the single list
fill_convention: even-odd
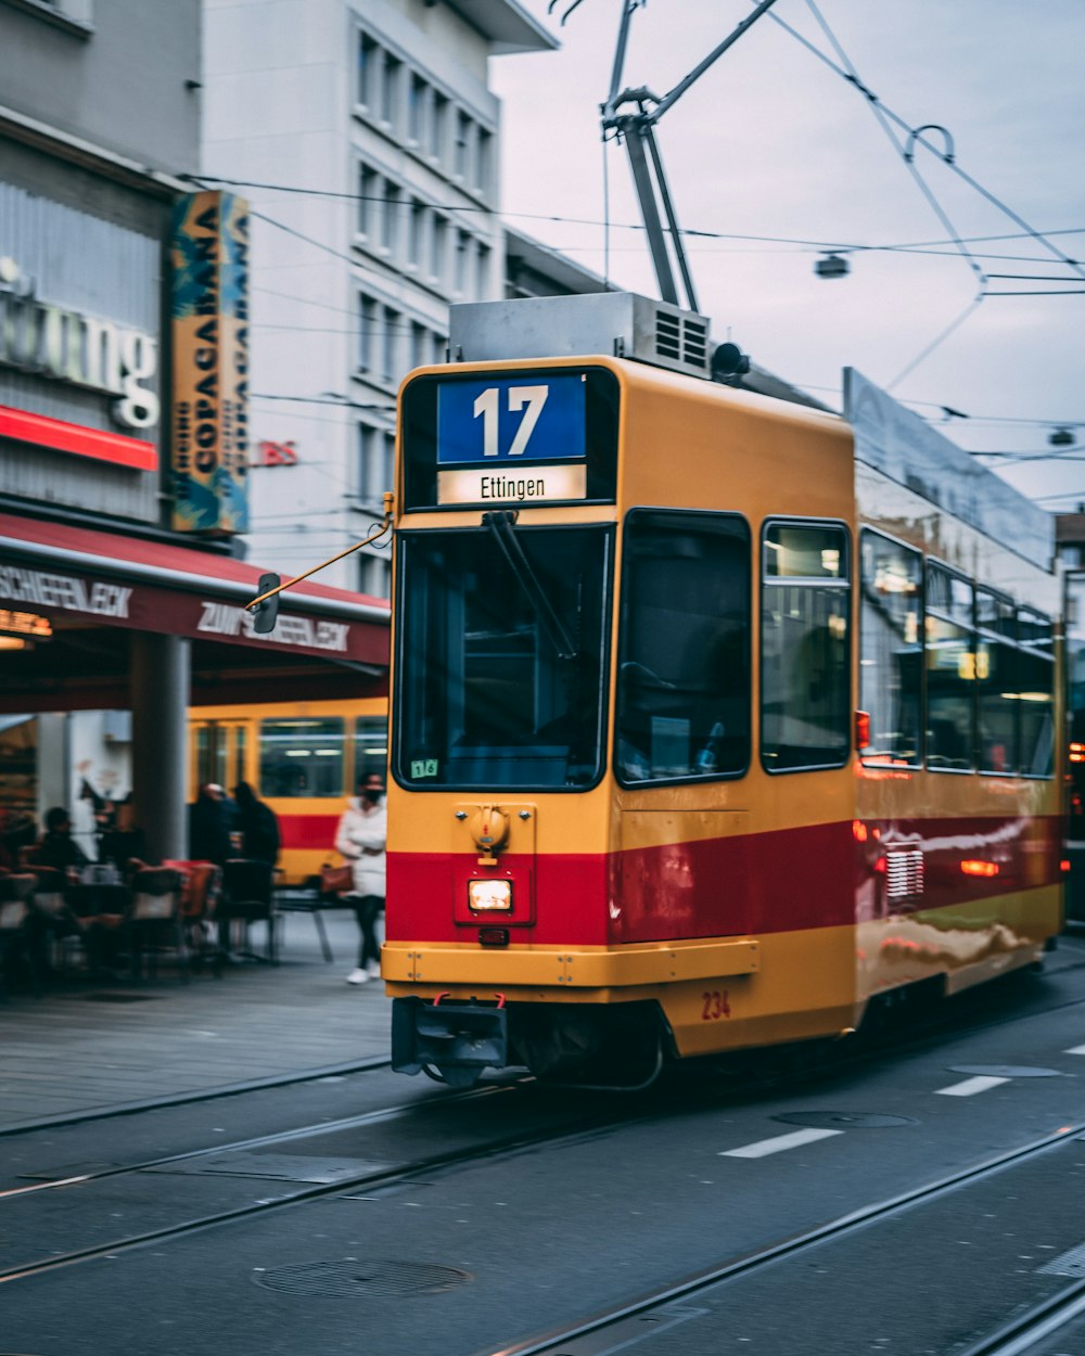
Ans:
[{"label": "vertical orange and blue Copacabana sign on building", "polygon": [[248,529],[248,203],[174,210],[174,514],[178,532]]}]

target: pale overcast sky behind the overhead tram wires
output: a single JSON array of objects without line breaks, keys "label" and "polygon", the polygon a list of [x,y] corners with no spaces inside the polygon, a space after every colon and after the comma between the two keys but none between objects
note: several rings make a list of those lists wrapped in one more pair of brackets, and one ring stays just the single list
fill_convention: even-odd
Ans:
[{"label": "pale overcast sky behind the overhead tram wires", "polygon": [[[625,149],[604,152],[599,134],[624,0],[580,0],[561,26],[571,3],[556,0],[548,16],[547,0],[521,0],[561,50],[491,65],[503,100],[505,214],[613,282],[658,296],[643,232],[628,229],[640,217]],[[1047,454],[1052,428],[1069,426],[1077,445],[1059,461],[985,461],[1046,507],[1085,502],[1085,268],[1023,237],[920,148],[915,170],[948,229],[871,102],[773,19],[850,64],[906,126],[948,129],[960,171],[1085,260],[1085,0],[816,5],[777,0],[656,129],[681,226],[724,237],[688,244],[713,338],[834,408],[849,365],[933,419],[943,405],[962,411],[971,418],[939,427],[972,450]],[[632,16],[623,87],[665,95],[751,8],[648,0]],[[968,262],[952,235],[1013,239],[970,243]],[[734,239],[743,236],[762,239]],[[902,244],[926,250],[886,248]],[[850,247],[848,277],[814,274],[819,245]],[[1063,287],[1077,296],[994,296]]]}]

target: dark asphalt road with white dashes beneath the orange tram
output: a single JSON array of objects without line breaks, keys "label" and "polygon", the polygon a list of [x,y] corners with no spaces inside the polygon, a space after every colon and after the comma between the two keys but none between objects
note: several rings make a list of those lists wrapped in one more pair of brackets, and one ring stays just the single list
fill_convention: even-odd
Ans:
[{"label": "dark asphalt road with white dashes beneath the orange tram", "polygon": [[[255,1153],[269,1172],[283,1153],[317,1169],[396,1165],[503,1132],[564,1132],[23,1275],[0,1294],[0,1349],[500,1352],[1085,1124],[1085,946],[1065,941],[1051,961],[1046,976],[955,1005],[937,1035],[789,1083],[735,1088],[704,1067],[625,1104],[537,1086],[462,1102],[370,1071],[12,1136],[0,1142],[8,1191],[366,1112],[389,1115]],[[45,1260],[85,1238],[123,1238],[133,1219],[170,1227],[296,1186],[254,1170],[252,1155],[244,1176],[195,1159],[0,1196],[0,1250],[8,1262]],[[1065,1283],[1044,1268],[1085,1245],[1082,1185],[1085,1143],[1067,1135],[936,1204],[705,1291],[681,1321],[625,1330],[621,1349],[949,1356]],[[1082,1356],[1082,1329],[1077,1345],[1071,1336],[1038,1353]],[[616,1340],[601,1333],[591,1349]]]}]

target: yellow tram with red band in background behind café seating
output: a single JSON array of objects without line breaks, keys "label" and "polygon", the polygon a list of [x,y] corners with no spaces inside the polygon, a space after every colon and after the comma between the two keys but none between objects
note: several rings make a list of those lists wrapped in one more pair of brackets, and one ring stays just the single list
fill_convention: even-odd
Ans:
[{"label": "yellow tram with red band in background behind caf\u00e9 seating", "polygon": [[335,856],[335,830],[358,777],[384,776],[388,701],[281,701],[193,706],[189,788],[247,781],[279,822],[281,883],[305,885]]}]

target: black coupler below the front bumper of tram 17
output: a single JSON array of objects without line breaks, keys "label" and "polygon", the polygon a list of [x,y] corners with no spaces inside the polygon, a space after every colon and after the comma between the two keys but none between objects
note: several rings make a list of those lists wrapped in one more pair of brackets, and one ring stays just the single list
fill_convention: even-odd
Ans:
[{"label": "black coupler below the front bumper of tram 17", "polygon": [[420,998],[392,999],[392,1069],[418,1074],[435,1069],[450,1083],[471,1082],[484,1069],[509,1063],[509,1010],[496,1003],[431,1003]]}]

